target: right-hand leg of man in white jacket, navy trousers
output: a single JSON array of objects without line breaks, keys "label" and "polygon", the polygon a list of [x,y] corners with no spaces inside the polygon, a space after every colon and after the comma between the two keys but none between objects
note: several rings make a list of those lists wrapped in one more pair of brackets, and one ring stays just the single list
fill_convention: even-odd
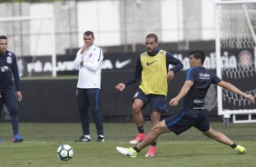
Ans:
[{"label": "right-hand leg of man in white jacket, navy trousers", "polygon": [[94,116],[94,123],[96,126],[97,135],[98,135],[97,141],[104,142],[103,117],[102,117],[101,108],[100,108],[100,93],[101,91],[98,88],[88,89],[87,98],[89,100],[89,105]]}]

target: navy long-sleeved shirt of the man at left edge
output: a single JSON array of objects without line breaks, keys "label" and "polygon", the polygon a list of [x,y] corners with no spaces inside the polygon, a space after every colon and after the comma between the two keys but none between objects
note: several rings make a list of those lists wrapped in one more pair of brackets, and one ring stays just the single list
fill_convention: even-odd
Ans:
[{"label": "navy long-sleeved shirt of the man at left edge", "polygon": [[20,91],[20,77],[16,63],[16,56],[14,53],[6,51],[4,55],[0,54],[0,92],[5,92],[14,88],[14,84],[12,82],[13,74],[16,90]]}]

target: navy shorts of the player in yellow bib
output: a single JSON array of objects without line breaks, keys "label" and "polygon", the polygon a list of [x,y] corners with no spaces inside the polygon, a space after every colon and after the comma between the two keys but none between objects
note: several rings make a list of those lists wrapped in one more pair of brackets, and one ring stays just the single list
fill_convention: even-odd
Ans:
[{"label": "navy shorts of the player in yellow bib", "polygon": [[133,101],[135,99],[140,99],[143,101],[143,108],[148,104],[151,103],[151,112],[161,112],[166,113],[166,99],[165,95],[161,94],[145,94],[141,89],[133,95]]}]

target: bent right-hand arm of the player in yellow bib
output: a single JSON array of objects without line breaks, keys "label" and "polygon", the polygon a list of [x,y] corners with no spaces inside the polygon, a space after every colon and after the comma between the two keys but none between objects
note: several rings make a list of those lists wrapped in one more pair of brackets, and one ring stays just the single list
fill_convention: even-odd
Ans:
[{"label": "bent right-hand arm of the player in yellow bib", "polygon": [[167,63],[167,70],[168,70],[169,64],[175,65],[167,73],[167,80],[170,81],[174,77],[175,73],[182,70],[183,64],[179,59],[173,57],[172,54],[168,52],[166,53],[166,63]]}]

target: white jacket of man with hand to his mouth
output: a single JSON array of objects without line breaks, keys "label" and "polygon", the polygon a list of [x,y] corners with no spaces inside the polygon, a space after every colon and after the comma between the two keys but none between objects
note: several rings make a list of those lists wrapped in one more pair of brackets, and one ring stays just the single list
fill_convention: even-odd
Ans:
[{"label": "white jacket of man with hand to his mouth", "polygon": [[[82,48],[81,48],[82,49]],[[101,73],[103,63],[103,51],[93,44],[80,54],[81,49],[74,59],[74,69],[79,70],[77,88],[101,88]],[[83,66],[80,65],[82,59]]]}]

